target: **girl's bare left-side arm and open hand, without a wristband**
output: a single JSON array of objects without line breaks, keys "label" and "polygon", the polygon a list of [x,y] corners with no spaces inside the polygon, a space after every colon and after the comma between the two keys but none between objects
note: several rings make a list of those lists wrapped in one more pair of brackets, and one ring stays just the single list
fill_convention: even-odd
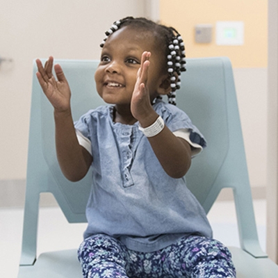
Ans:
[{"label": "girl's bare left-side arm and open hand, without a wristband", "polygon": [[60,168],[67,179],[79,181],[88,172],[92,156],[79,145],[70,108],[70,86],[60,65],[55,65],[57,79],[52,74],[54,59],[49,57],[44,67],[40,60],[37,77],[44,95],[54,106],[56,153]]}]

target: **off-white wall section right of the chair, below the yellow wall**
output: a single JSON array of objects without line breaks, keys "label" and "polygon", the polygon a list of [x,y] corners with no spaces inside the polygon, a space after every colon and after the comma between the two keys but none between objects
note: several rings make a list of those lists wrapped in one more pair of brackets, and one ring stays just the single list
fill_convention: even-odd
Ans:
[{"label": "off-white wall section right of the chair, below the yellow wall", "polygon": [[268,70],[261,67],[234,69],[234,80],[250,183],[253,188],[265,187]]}]

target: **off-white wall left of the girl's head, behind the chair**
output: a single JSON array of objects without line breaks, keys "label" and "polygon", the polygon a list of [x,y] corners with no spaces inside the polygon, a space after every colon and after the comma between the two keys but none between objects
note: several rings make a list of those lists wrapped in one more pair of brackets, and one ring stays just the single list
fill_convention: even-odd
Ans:
[{"label": "off-white wall left of the girl's head, behind the chair", "polygon": [[34,58],[97,59],[115,20],[145,13],[142,0],[0,0],[0,180],[24,179]]}]

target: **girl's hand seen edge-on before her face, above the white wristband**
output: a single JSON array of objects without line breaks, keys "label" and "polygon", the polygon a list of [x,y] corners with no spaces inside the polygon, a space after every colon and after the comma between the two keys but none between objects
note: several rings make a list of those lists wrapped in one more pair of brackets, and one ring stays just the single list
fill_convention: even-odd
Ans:
[{"label": "girl's hand seen edge-on before her face, above the white wristband", "polygon": [[150,52],[145,51],[142,53],[141,65],[137,73],[137,81],[131,98],[131,113],[140,124],[149,119],[152,114],[156,114],[152,108],[147,87],[150,56]]}]

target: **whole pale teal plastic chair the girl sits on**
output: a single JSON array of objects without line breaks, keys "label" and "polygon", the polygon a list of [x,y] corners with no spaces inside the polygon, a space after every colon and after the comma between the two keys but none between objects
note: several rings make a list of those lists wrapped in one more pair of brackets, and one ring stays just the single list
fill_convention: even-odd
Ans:
[{"label": "whole pale teal plastic chair the girl sits on", "polygon": [[[104,102],[95,90],[93,60],[56,60],[72,89],[74,120]],[[68,222],[86,222],[85,205],[90,172],[78,183],[67,181],[58,166],[54,144],[53,108],[42,93],[33,70],[28,146],[26,204],[20,278],[82,277],[76,250],[42,253],[37,259],[40,193],[52,193]],[[277,278],[278,266],[261,250],[256,231],[250,182],[231,63],[228,58],[188,59],[181,76],[178,106],[204,133],[208,147],[193,160],[188,186],[206,213],[222,188],[232,188],[238,219],[240,248],[229,247],[238,278]],[[78,246],[76,246],[76,249]]]}]

